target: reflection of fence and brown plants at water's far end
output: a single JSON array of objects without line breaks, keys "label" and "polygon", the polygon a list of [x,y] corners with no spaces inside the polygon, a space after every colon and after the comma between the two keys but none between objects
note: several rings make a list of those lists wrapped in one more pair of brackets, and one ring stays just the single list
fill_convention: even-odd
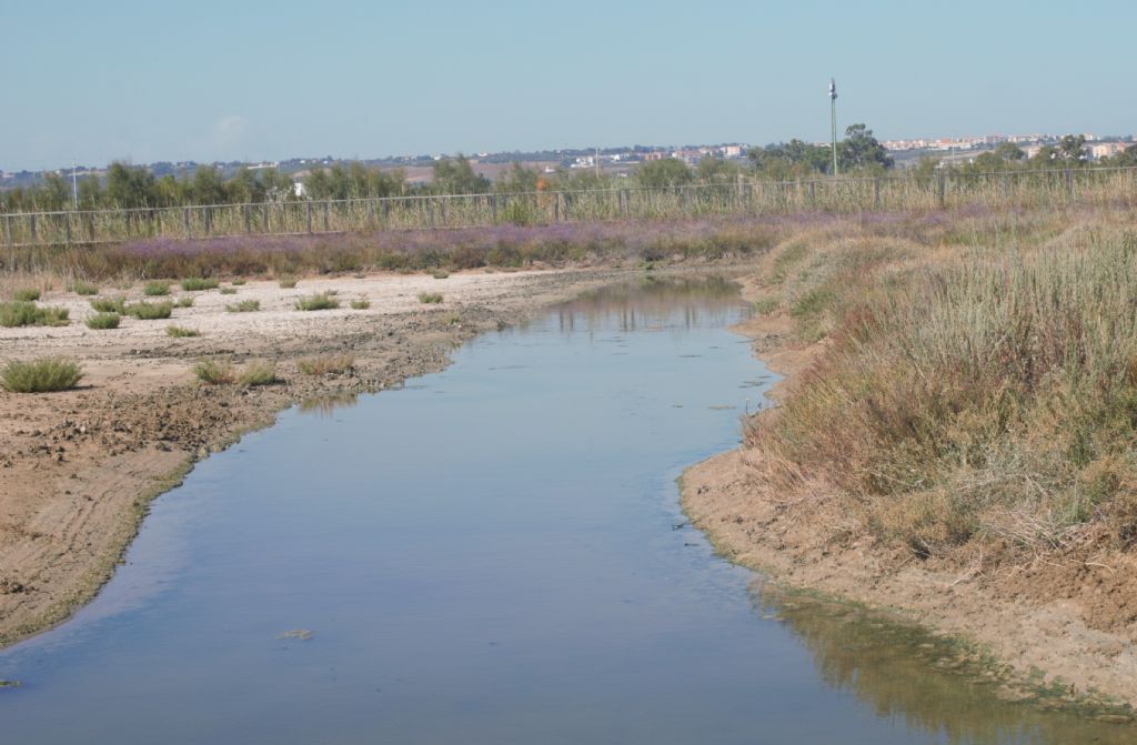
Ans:
[{"label": "reflection of fence and brown plants at water's far end", "polygon": [[656,278],[592,290],[557,306],[561,331],[614,323],[621,332],[722,328],[745,317],[739,287],[722,276]]}]

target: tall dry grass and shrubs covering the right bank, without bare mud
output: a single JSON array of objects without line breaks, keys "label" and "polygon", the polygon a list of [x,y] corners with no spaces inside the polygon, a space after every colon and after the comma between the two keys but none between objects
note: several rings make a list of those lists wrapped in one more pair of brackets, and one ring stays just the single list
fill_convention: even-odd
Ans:
[{"label": "tall dry grass and shrubs covering the right bank, without bare mud", "polygon": [[1137,232],[1001,227],[779,247],[763,309],[829,345],[748,422],[782,489],[919,556],[1062,551],[1094,523],[1132,540]]}]

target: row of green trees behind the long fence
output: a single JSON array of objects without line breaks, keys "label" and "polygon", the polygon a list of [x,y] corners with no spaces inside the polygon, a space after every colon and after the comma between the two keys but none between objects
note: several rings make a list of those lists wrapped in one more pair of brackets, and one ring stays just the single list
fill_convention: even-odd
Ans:
[{"label": "row of green trees behind the long fence", "polygon": [[[69,179],[47,174],[41,184],[0,191],[0,213],[56,212],[70,209],[118,209],[146,207],[180,207],[189,205],[224,205],[299,199],[360,199],[421,194],[525,193],[534,191],[584,191],[616,187],[662,189],[689,184],[735,183],[740,176],[773,180],[807,179],[831,175],[833,151],[827,144],[802,140],[754,147],[745,160],[707,157],[694,167],[682,160],[665,158],[638,165],[630,179],[597,173],[590,168],[558,169],[547,174],[514,162],[496,180],[473,168],[462,154],[437,160],[430,183],[410,183],[399,168],[384,171],[360,163],[314,167],[304,177],[298,193],[293,177],[275,168],[241,168],[226,179],[214,166],[198,166],[192,174],[156,177],[146,167],[124,163],[110,165],[103,179],[85,175],[73,190]],[[1137,146],[1098,162],[1106,166],[1137,166]],[[885,147],[864,124],[845,130],[837,143],[837,171],[840,175],[881,175],[895,168]],[[941,165],[938,158],[924,157],[915,166],[916,175],[937,172],[963,175],[1029,168],[1088,167],[1086,139],[1067,135],[1054,146],[1046,146],[1031,158],[1015,144],[1005,142],[966,164]]]}]

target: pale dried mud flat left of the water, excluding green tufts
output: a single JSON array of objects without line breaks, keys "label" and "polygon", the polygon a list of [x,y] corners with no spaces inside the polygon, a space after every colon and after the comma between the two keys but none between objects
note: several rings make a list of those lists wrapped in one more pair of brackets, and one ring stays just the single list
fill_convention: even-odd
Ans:
[{"label": "pale dried mud flat left of the water, excluding green tufts", "polygon": [[[92,331],[86,298],[48,293],[70,309],[63,328],[0,329],[0,359],[63,355],[82,362],[80,388],[44,395],[0,391],[0,646],[66,619],[110,577],[151,498],[188,467],[282,408],[321,396],[382,390],[442,369],[448,351],[558,300],[628,279],[619,270],[471,272],[446,279],[385,274],[300,280],[294,289],[250,281],[235,295],[192,295],[168,321],[123,320]],[[298,298],[335,290],[341,309],[300,312]],[[440,292],[425,305],[421,292]],[[109,291],[105,295],[116,295]],[[126,293],[141,299],[140,288]],[[367,299],[367,309],[350,309]],[[159,300],[161,298],[158,298]],[[225,306],[259,300],[260,311]],[[166,326],[200,331],[171,338]],[[342,374],[302,375],[296,361],[351,354]],[[276,361],[282,382],[204,386],[202,357]]]}]

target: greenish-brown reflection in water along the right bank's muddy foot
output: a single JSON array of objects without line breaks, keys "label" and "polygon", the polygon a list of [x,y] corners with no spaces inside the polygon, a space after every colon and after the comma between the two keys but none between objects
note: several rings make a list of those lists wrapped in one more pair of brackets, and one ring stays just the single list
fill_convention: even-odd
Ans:
[{"label": "greenish-brown reflection in water along the right bank's muddy foot", "polygon": [[764,580],[754,581],[750,591],[758,613],[779,619],[803,640],[825,682],[911,729],[976,745],[1137,742],[1131,726],[1093,719],[1115,712],[1062,711],[1069,704],[1057,696],[1035,700],[1009,688],[978,654],[951,639]]}]

